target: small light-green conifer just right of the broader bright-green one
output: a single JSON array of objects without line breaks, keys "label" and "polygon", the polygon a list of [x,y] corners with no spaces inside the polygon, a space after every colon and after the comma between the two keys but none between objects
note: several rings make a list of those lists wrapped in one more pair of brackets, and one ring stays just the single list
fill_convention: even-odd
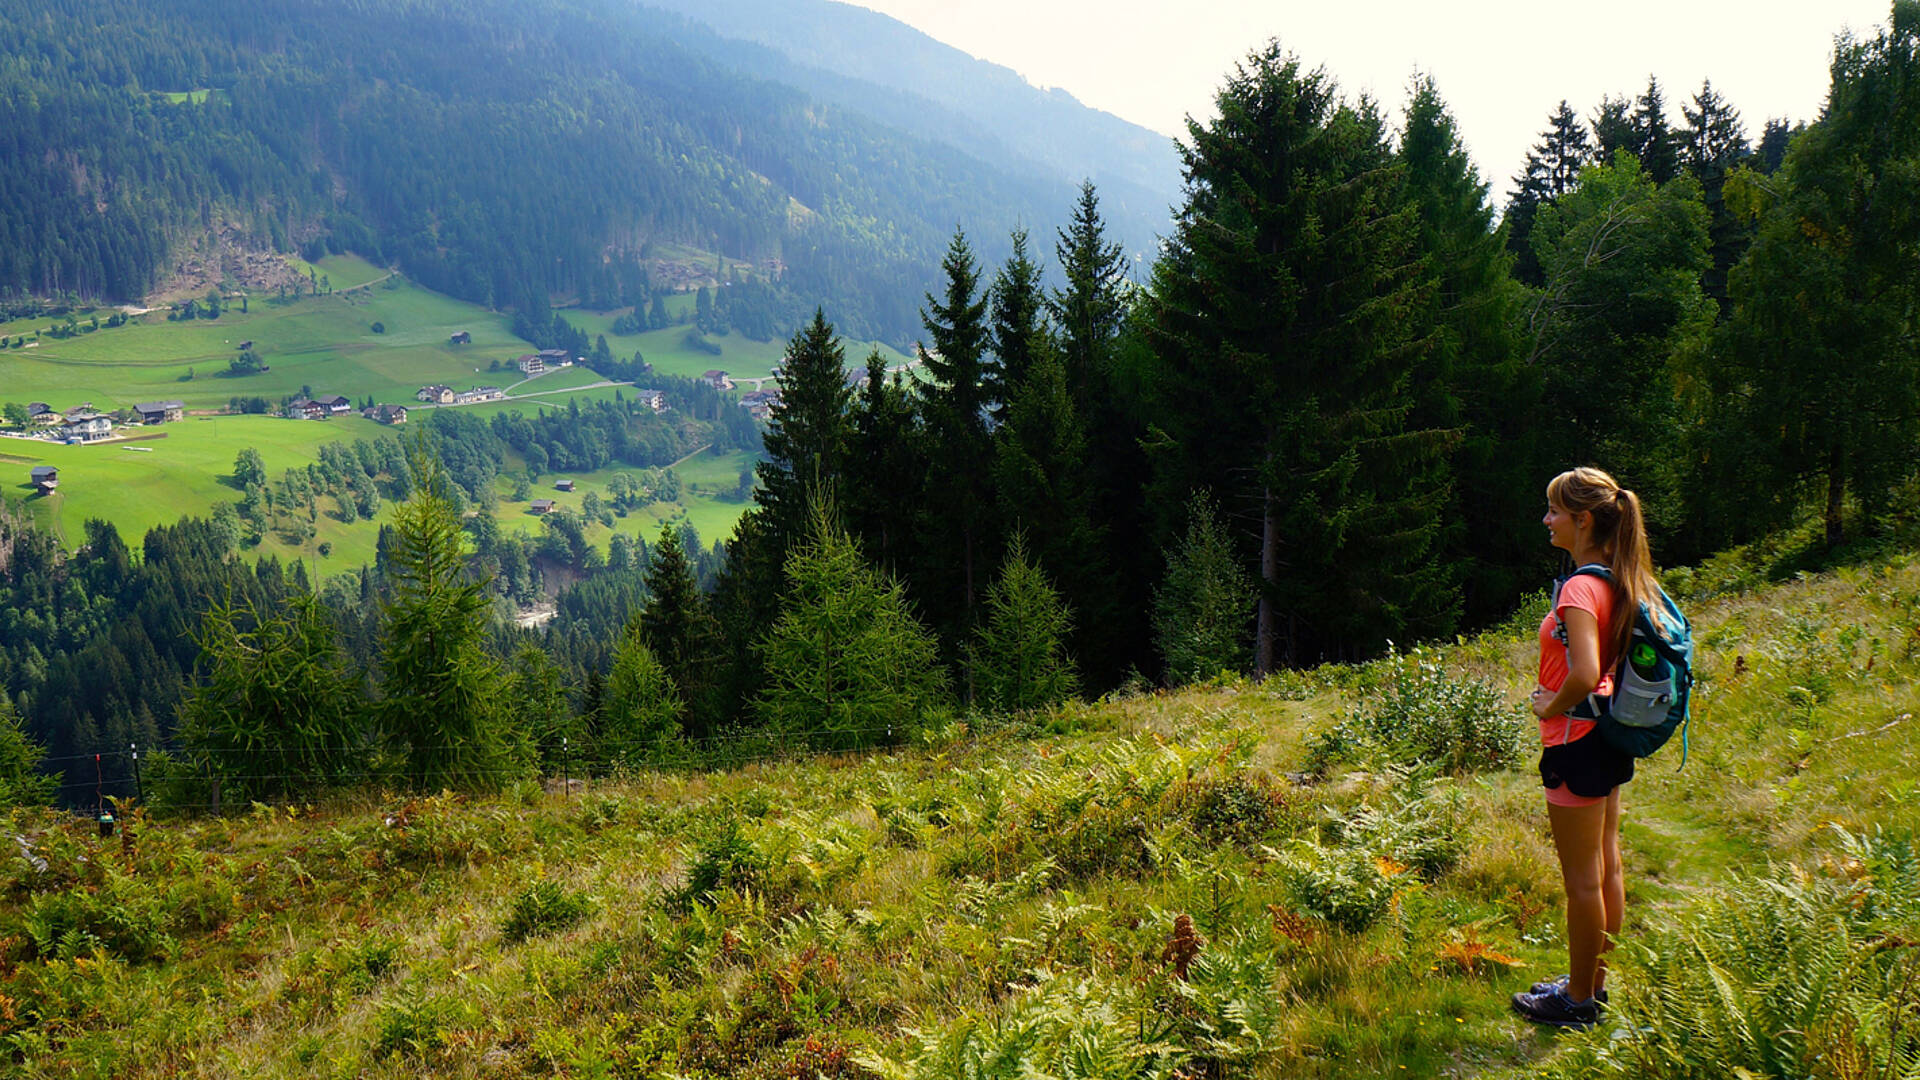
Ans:
[{"label": "small light-green conifer just right of the broader bright-green one", "polygon": [[985,609],[968,644],[968,673],[979,705],[1006,713],[1046,709],[1079,690],[1066,648],[1073,609],[1027,557],[1018,532],[1000,580],[987,590]]}]

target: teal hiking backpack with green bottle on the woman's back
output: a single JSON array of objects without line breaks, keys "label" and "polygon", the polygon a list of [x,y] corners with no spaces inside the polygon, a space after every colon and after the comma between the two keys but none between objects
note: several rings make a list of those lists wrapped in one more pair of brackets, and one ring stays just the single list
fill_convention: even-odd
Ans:
[{"label": "teal hiking backpack with green bottle on the woman's back", "polygon": [[[1599,563],[1588,563],[1574,573],[1553,582],[1553,636],[1567,644],[1567,626],[1559,621],[1559,590],[1580,575],[1613,580],[1613,571]],[[1680,605],[1659,590],[1661,611],[1667,626],[1655,626],[1642,603],[1634,613],[1634,632],[1626,642],[1626,655],[1620,657],[1613,673],[1613,694],[1601,698],[1590,694],[1586,701],[1574,705],[1569,715],[1597,723],[1599,736],[1620,753],[1649,757],[1667,746],[1674,730],[1680,732],[1680,767],[1686,767],[1686,724],[1688,698],[1693,692],[1693,628],[1688,625]]]}]

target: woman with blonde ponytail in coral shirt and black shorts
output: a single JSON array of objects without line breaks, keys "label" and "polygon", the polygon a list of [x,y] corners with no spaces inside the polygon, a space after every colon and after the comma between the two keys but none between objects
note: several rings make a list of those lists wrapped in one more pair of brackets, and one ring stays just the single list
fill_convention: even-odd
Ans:
[{"label": "woman with blonde ponytail in coral shirt and black shorts", "polygon": [[[1542,1024],[1588,1026],[1607,1001],[1601,953],[1620,932],[1626,886],[1620,878],[1620,784],[1634,776],[1632,755],[1594,732],[1590,694],[1613,692],[1613,671],[1632,634],[1634,613],[1659,596],[1640,500],[1599,469],[1572,469],[1548,484],[1544,519],[1555,548],[1574,567],[1599,565],[1609,577],[1572,575],[1553,592],[1540,623],[1540,782],[1548,824],[1567,888],[1567,974],[1513,995],[1513,1009]],[[1655,611],[1659,605],[1653,605]]]}]

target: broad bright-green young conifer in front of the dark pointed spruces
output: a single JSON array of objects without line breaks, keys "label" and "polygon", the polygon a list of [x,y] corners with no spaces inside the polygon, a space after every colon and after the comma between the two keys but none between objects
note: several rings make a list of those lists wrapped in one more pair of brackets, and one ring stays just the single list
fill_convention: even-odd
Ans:
[{"label": "broad bright-green young conifer in front of the dark pointed spruces", "polygon": [[812,503],[804,544],[787,557],[787,598],[760,651],[760,723],[816,749],[858,749],[910,736],[947,694],[939,644],[914,619],[904,590],[860,559]]}]

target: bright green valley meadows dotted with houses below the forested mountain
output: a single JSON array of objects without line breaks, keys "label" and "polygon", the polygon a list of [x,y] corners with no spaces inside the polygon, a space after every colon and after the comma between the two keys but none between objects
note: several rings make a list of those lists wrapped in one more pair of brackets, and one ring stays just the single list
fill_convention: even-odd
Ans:
[{"label": "bright green valley meadows dotted with houses below the forested mountain", "polygon": [[[301,271],[309,267],[300,259],[292,263]],[[515,394],[534,394],[488,405],[463,405],[480,419],[492,419],[505,411],[563,409],[572,400],[614,400],[622,390],[630,394],[630,388],[620,386],[584,388],[605,380],[584,365],[549,371],[536,379],[495,367],[495,361],[511,361],[532,350],[528,342],[513,336],[509,317],[420,288],[365,259],[330,256],[313,263],[313,271],[330,279],[332,294],[252,298],[246,313],[234,304],[219,319],[173,323],[163,311],[152,311],[123,327],[102,327],[65,340],[40,334],[65,319],[19,319],[0,325],[0,334],[8,338],[25,336],[36,342],[33,348],[0,352],[0,402],[48,402],[56,409],[92,402],[100,409],[117,409],[136,402],[180,400],[190,411],[211,413],[223,409],[234,396],[278,402],[303,390],[346,394],[355,404],[371,396],[376,402],[417,405],[413,394],[428,382],[455,388],[493,384]],[[691,304],[691,298],[684,304]],[[88,325],[94,315],[104,323],[108,313],[109,309],[79,315],[77,325]],[[605,315],[603,321],[611,325],[614,317],[618,311]],[[382,332],[372,331],[374,323],[382,325]],[[472,342],[451,344],[449,336],[459,331],[472,334]],[[678,340],[684,331],[660,334]],[[753,344],[739,338],[720,340],[728,348]],[[227,375],[227,361],[238,356],[242,342],[253,342],[269,371],[248,377]],[[745,363],[745,350],[735,350],[733,356],[733,363]],[[780,346],[755,344],[753,356],[764,371],[780,357]],[[682,365],[691,369],[691,375],[707,367],[707,363]],[[134,442],[61,446],[42,440],[0,440],[0,494],[8,502],[25,502],[35,519],[69,546],[81,542],[84,523],[94,517],[113,521],[123,536],[136,542],[156,525],[173,523],[188,513],[211,513],[215,503],[236,500],[238,492],[228,477],[242,448],[259,450],[269,475],[278,475],[284,469],[315,463],[319,448],[326,442],[396,434],[394,429],[359,415],[326,423],[263,415],[190,415],[180,423],[121,427],[117,432],[132,436]],[[739,471],[751,463],[747,454],[722,457],[699,454],[676,469],[682,477],[680,502],[657,503],[616,519],[616,528],[651,540],[662,521],[691,523],[703,542],[722,540],[732,534],[745,503],[718,496],[730,496]],[[60,469],[56,494],[33,492],[27,482],[33,465]],[[518,471],[524,463],[509,459],[507,469]],[[572,496],[559,494],[561,505],[578,507],[589,490],[605,498],[607,480],[620,471],[639,473],[620,467],[576,477],[580,490]],[[501,480],[501,525],[509,532],[538,528],[538,521],[526,513],[526,503],[507,502],[509,492],[511,480]],[[388,515],[390,507],[382,507],[374,521],[344,525],[323,513],[309,542],[290,546],[269,534],[257,552],[282,559],[309,559],[323,577],[348,571],[372,561],[378,528]],[[605,527],[588,530],[588,538],[603,552],[611,536],[612,530]]]}]

